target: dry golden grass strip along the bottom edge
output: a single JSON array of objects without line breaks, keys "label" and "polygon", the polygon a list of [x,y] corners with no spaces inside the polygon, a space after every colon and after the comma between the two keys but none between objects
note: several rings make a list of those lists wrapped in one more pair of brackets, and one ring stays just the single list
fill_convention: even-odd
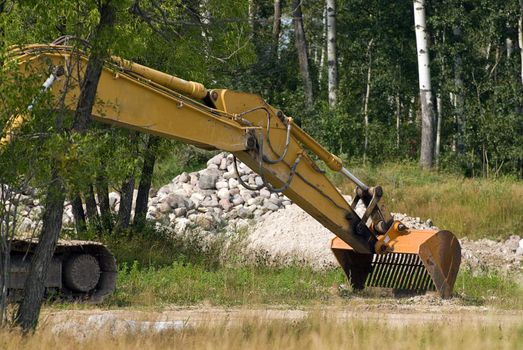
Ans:
[{"label": "dry golden grass strip along the bottom edge", "polygon": [[[212,317],[212,316],[209,316]],[[0,333],[0,347],[14,349],[521,349],[523,321],[395,323],[344,319],[317,313],[298,320],[251,318],[163,333],[106,332],[86,339],[54,336],[47,329],[23,339]]]}]

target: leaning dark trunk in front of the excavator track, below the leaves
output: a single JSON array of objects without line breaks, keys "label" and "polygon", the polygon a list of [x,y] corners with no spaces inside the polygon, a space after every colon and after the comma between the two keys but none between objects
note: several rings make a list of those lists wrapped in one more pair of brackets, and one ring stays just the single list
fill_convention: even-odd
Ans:
[{"label": "leaning dark trunk in front of the excavator track, below the leaves", "polygon": [[42,218],[42,233],[31,259],[31,267],[24,285],[24,296],[16,315],[16,324],[22,328],[24,333],[34,330],[38,323],[45,294],[44,283],[62,230],[64,200],[62,180],[55,170],[47,192]]}]

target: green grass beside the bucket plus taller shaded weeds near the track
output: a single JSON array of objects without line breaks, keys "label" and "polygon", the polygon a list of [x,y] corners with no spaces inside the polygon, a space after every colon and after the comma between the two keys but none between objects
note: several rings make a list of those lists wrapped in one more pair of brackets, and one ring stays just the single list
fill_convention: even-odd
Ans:
[{"label": "green grass beside the bucket plus taller shaded weeds near the track", "polygon": [[[202,244],[198,234],[176,236],[146,226],[140,233],[105,237],[119,263],[117,290],[106,307],[162,307],[201,303],[228,305],[311,305],[348,301],[341,269],[315,271],[296,263],[277,267],[263,259],[249,260],[245,241],[216,233]],[[207,237],[208,238],[208,237]],[[523,310],[523,279],[494,271],[473,273],[463,268],[455,285],[458,302]],[[394,301],[391,301],[394,302]]]}]

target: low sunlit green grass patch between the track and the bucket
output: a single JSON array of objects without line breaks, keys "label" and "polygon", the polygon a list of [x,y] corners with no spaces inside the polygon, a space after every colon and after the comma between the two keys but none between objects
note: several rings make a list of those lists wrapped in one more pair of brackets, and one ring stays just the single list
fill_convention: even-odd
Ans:
[{"label": "low sunlit green grass patch between the track and the bucket", "polygon": [[162,268],[140,269],[124,265],[118,289],[108,300],[116,306],[304,305],[329,301],[344,283],[340,271],[318,272],[303,267],[220,267],[173,263]]}]

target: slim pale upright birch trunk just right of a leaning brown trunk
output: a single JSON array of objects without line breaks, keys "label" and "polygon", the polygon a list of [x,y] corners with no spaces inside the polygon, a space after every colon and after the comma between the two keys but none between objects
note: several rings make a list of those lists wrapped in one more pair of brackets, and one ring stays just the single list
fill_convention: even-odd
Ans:
[{"label": "slim pale upright birch trunk just right of a leaning brown trunk", "polygon": [[327,67],[329,106],[338,103],[338,59],[336,57],[336,0],[327,0]]}]

